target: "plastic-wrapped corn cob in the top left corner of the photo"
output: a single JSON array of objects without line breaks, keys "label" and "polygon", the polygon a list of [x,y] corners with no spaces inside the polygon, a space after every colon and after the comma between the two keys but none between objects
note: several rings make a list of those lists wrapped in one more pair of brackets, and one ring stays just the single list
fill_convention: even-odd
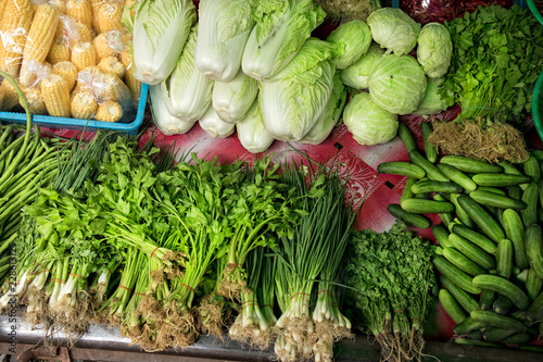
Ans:
[{"label": "plastic-wrapped corn cob in the top left corner of the photo", "polygon": [[33,20],[30,0],[9,0],[5,5],[0,34],[3,48],[0,54],[0,68],[16,78],[23,60],[25,39]]}]

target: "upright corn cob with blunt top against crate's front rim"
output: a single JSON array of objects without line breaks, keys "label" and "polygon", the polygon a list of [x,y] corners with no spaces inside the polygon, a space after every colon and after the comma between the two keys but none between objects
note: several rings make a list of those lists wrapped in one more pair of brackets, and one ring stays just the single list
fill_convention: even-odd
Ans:
[{"label": "upright corn cob with blunt top against crate's front rim", "polygon": [[56,117],[70,117],[70,90],[66,82],[56,74],[51,74],[40,85],[41,97],[47,112]]}]

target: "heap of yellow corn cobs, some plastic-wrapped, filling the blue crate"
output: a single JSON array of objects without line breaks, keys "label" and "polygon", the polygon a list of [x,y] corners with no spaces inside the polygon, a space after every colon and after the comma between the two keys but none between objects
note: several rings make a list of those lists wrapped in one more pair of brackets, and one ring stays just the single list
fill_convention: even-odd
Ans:
[{"label": "heap of yellow corn cobs, some plastic-wrapped, filling the blue crate", "polygon": [[[131,122],[141,83],[132,74],[131,34],[122,24],[134,1],[2,1],[0,68],[14,77],[30,112]],[[125,8],[126,5],[126,8]],[[1,110],[17,111],[9,82]]]}]

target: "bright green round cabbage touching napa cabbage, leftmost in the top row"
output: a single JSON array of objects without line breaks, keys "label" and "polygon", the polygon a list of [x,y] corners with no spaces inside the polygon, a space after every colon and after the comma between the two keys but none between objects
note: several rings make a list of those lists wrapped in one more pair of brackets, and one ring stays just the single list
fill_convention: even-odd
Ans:
[{"label": "bright green round cabbage touching napa cabbage, leftmost in the top row", "polygon": [[343,54],[336,58],[336,68],[344,70],[368,51],[371,32],[366,23],[355,20],[340,25],[326,40],[344,49]]}]

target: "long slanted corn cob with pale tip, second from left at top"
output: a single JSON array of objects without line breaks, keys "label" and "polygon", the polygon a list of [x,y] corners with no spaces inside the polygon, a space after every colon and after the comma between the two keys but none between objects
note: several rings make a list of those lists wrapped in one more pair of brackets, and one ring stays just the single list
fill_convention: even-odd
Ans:
[{"label": "long slanted corn cob with pale tip, second from left at top", "polygon": [[35,60],[42,63],[47,59],[58,24],[59,12],[56,9],[48,3],[36,8],[33,24],[26,38],[23,63],[21,64],[20,83],[23,87],[30,86],[36,79],[36,76],[27,70],[28,62]]}]

